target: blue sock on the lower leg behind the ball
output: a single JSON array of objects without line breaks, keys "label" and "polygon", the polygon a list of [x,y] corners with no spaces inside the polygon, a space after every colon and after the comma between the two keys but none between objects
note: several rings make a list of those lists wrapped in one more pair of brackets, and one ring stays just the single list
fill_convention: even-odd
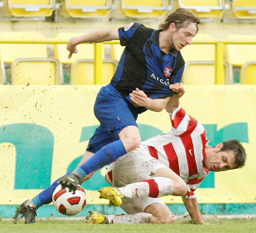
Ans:
[{"label": "blue sock on the lower leg behind the ball", "polygon": [[[71,172],[69,172],[69,173],[71,173]],[[69,174],[69,173],[67,173],[67,174]],[[52,202],[52,194],[53,194],[54,190],[56,189],[56,187],[59,185],[58,181],[61,177],[56,179],[55,182],[53,182],[51,184],[51,186],[49,186],[47,189],[41,191],[38,195],[36,195],[35,197],[33,197],[31,199],[33,201],[33,203],[37,206],[37,208],[43,204],[49,204]]]}]

